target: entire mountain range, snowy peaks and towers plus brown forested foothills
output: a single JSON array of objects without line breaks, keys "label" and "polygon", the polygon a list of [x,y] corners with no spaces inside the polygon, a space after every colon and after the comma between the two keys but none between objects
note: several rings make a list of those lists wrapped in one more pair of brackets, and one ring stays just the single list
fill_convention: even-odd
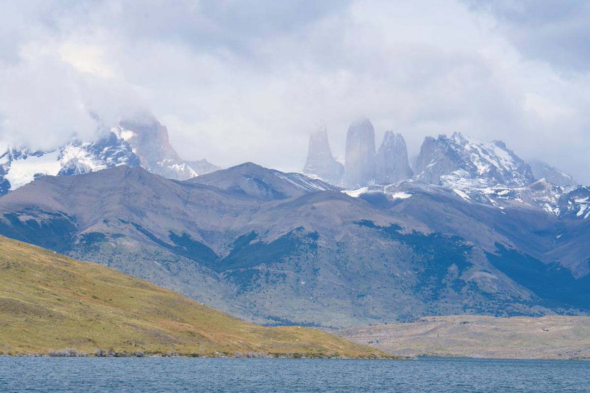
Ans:
[{"label": "entire mountain range, snowy peaks and towers plus brown forested foothills", "polygon": [[218,170],[182,161],[149,117],[2,160],[0,234],[247,321],[590,310],[590,190],[555,168],[533,171],[500,141],[427,137],[412,170],[404,138],[388,131],[376,150],[363,118],[344,164],[318,124],[310,176],[253,163]]}]

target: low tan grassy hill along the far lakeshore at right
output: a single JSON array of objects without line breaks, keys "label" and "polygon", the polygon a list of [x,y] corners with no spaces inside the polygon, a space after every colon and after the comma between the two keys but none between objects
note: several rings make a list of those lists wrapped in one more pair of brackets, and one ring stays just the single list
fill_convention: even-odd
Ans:
[{"label": "low tan grassy hill along the far lakeshore at right", "polygon": [[398,355],[590,359],[586,316],[437,316],[335,333]]}]

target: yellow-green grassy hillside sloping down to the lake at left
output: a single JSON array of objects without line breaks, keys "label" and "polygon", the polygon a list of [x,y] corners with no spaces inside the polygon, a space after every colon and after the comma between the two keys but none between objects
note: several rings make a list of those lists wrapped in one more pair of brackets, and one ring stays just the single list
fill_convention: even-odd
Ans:
[{"label": "yellow-green grassy hillside sloping down to the lake at left", "polygon": [[387,356],[314,329],[246,323],[110,267],[0,236],[0,354],[62,348]]}]

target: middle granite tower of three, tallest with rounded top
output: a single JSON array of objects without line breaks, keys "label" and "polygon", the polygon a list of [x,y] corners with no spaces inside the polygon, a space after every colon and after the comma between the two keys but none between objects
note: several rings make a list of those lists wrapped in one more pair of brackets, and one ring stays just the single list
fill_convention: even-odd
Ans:
[{"label": "middle granite tower of three, tallest with rounded top", "polygon": [[346,134],[342,186],[350,189],[375,183],[375,129],[368,118],[352,123]]}]

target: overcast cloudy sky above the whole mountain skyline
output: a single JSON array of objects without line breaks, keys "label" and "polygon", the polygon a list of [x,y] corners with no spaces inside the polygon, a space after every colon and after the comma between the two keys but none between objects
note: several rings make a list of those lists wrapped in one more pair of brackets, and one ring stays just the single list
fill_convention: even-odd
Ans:
[{"label": "overcast cloudy sky above the whole mountain skyline", "polygon": [[0,0],[0,139],[149,111],[186,160],[303,169],[314,123],[503,140],[590,184],[590,1]]}]

